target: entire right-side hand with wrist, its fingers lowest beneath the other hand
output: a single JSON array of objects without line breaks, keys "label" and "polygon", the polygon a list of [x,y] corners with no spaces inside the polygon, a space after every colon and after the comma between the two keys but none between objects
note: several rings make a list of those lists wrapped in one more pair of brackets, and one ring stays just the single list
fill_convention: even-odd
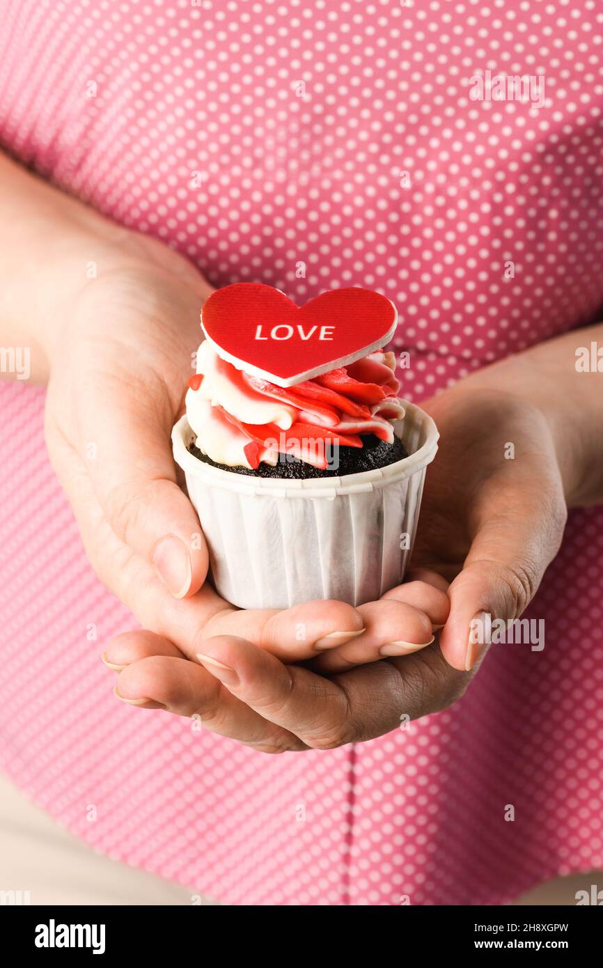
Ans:
[{"label": "entire right-side hand with wrist, its fingers lowest beneath the other hand", "polygon": [[[473,618],[521,615],[558,551],[566,502],[600,499],[600,430],[592,433],[589,424],[600,428],[601,401],[596,375],[575,382],[577,339],[567,334],[503,361],[424,405],[441,438],[413,564],[452,581],[439,644],[343,675],[324,675],[325,668],[317,675],[316,666],[286,666],[239,638],[199,642],[196,664],[169,637],[128,633],[107,650],[120,673],[120,697],[196,714],[209,729],[269,751],[368,740],[401,717],[458,699],[488,648],[473,641]],[[409,577],[446,588],[424,570]]]}]

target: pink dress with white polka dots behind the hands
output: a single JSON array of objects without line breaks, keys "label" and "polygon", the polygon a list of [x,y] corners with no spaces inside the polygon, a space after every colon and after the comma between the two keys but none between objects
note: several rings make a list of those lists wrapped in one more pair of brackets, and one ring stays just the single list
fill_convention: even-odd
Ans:
[{"label": "pink dress with white polka dots behind the hands", "polygon": [[[597,318],[595,0],[0,12],[5,149],[216,286],[385,293],[408,398]],[[486,72],[545,96],[474,99]],[[232,904],[497,904],[603,867],[603,509],[570,515],[529,609],[544,651],[492,650],[406,730],[268,757],[114,701],[99,655],[134,620],[85,558],[43,408],[0,386],[0,763],[70,830]]]}]

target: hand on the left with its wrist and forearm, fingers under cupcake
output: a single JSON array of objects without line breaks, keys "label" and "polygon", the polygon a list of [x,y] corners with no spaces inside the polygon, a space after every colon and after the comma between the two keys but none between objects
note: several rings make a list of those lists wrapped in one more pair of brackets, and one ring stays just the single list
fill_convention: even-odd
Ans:
[{"label": "hand on the left with its wrist and forearm, fingers under cupcake", "polygon": [[138,620],[183,648],[243,634],[288,660],[328,653],[331,667],[348,664],[347,643],[359,662],[431,641],[448,611],[435,590],[374,609],[364,647],[363,619],[342,602],[241,612],[205,584],[207,549],[169,438],[211,288],[165,245],[1,153],[0,206],[0,344],[28,348],[32,378],[48,381],[52,464],[95,571]]}]

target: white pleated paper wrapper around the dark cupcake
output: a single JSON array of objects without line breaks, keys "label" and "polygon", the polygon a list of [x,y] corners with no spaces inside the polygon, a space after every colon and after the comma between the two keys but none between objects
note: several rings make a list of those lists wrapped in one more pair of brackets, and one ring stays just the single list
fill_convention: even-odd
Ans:
[{"label": "white pleated paper wrapper around the dark cupcake", "polygon": [[282,480],[199,461],[186,416],[174,459],[209,546],[212,580],[240,608],[288,608],[315,598],[351,605],[399,585],[417,527],[425,471],[437,451],[430,416],[403,401],[394,425],[409,456],[343,477]]}]

